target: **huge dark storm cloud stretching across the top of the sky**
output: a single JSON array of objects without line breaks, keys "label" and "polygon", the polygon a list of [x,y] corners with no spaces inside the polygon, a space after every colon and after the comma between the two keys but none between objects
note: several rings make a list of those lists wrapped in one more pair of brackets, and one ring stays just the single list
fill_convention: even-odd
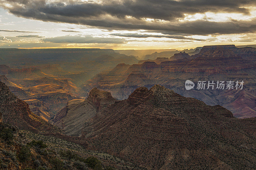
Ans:
[{"label": "huge dark storm cloud stretching across the top of the sky", "polygon": [[[0,0],[0,5],[19,17],[106,29],[144,29],[196,35],[246,33],[254,32],[256,29],[255,19],[227,22],[180,21],[185,17],[184,14],[205,12],[249,14],[250,11],[246,7],[255,7],[255,0],[110,0],[102,3],[74,0],[55,2]],[[127,18],[127,16],[131,17]],[[145,18],[153,20],[148,21]]]}]

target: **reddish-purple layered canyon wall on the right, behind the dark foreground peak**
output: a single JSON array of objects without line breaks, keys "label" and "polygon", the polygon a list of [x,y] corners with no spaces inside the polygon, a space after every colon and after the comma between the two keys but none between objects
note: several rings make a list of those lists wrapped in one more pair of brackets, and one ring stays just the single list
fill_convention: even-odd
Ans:
[{"label": "reddish-purple layered canyon wall on the right, behind the dark foreground peak", "polygon": [[[155,84],[185,96],[204,101],[208,105],[221,105],[231,110],[238,118],[256,116],[255,93],[255,49],[236,48],[234,45],[204,46],[196,55],[185,53],[172,57],[140,61],[139,64],[118,64],[112,70],[97,74],[87,80],[82,89],[89,92],[97,87],[111,92],[118,100],[127,99],[138,87]],[[143,63],[142,63],[143,62]],[[131,78],[132,77],[132,78]],[[219,90],[196,88],[187,91],[185,81],[244,81],[241,90]]]}]

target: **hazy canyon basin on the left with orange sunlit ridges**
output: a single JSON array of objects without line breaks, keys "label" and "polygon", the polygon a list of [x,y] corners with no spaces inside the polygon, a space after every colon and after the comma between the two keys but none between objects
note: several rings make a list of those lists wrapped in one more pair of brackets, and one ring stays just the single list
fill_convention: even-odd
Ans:
[{"label": "hazy canyon basin on the left with orange sunlit ridges", "polygon": [[0,80],[46,121],[54,118],[68,101],[88,95],[80,88],[87,79],[120,62],[139,61],[136,56],[96,48],[1,48],[0,56]]}]

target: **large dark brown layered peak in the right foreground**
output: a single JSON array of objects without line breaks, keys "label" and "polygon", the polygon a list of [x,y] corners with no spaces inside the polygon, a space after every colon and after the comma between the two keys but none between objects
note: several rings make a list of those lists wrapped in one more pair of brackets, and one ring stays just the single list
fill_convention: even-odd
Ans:
[{"label": "large dark brown layered peak in the right foreground", "polygon": [[239,169],[256,162],[248,127],[256,127],[253,119],[155,85],[102,109],[86,121],[81,139],[147,169]]}]

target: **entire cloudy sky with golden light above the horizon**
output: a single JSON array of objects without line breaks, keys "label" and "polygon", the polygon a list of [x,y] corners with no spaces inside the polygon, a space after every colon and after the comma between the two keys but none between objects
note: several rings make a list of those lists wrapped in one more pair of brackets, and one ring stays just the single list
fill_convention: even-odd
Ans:
[{"label": "entire cloudy sky with golden light above the horizon", "polygon": [[0,48],[255,44],[255,0],[0,0]]}]

